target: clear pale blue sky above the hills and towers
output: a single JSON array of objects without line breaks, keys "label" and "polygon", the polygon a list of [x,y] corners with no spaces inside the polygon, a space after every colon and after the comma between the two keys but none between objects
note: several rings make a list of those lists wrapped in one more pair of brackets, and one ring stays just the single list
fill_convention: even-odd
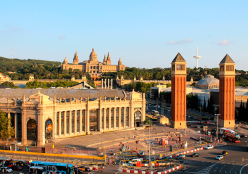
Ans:
[{"label": "clear pale blue sky above the hills and towers", "polygon": [[248,71],[248,1],[1,1],[0,56],[100,62],[110,53],[137,68],[167,68],[178,52],[194,68],[218,67],[229,54]]}]

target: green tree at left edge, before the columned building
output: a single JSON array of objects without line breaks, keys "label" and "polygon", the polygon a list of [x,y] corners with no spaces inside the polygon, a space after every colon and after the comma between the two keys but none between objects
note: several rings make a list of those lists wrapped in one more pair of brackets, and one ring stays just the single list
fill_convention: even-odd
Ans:
[{"label": "green tree at left edge, before the columned building", "polygon": [[0,138],[6,140],[15,135],[15,130],[11,126],[11,121],[6,117],[6,113],[0,111]]}]

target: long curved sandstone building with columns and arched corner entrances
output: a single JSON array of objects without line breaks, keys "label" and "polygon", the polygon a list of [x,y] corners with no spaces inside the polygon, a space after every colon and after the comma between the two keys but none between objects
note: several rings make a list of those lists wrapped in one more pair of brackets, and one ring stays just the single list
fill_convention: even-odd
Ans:
[{"label": "long curved sandstone building with columns and arched corner entrances", "polygon": [[145,120],[145,94],[121,90],[0,89],[0,109],[23,145],[136,128]]}]

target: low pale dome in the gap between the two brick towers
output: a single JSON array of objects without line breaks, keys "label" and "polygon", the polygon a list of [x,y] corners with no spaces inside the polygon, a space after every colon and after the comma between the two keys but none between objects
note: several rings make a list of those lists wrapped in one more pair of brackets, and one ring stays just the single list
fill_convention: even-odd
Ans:
[{"label": "low pale dome in the gap between the two brick towers", "polygon": [[219,79],[214,78],[212,75],[207,75],[205,78],[199,80],[195,87],[200,89],[219,88]]}]

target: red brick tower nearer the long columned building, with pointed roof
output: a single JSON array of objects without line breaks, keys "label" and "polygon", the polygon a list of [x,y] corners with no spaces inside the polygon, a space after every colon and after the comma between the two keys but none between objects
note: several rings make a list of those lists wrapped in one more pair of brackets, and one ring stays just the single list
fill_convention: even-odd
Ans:
[{"label": "red brick tower nearer the long columned building, with pointed roof", "polygon": [[171,62],[171,126],[186,127],[186,61],[180,53]]}]

